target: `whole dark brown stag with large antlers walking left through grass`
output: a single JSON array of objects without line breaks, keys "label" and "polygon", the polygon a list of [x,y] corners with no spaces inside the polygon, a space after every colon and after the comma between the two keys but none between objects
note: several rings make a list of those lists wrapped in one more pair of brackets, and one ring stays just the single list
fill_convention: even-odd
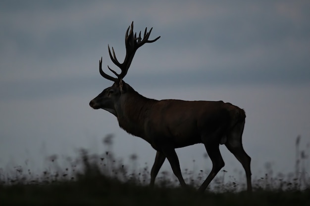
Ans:
[{"label": "whole dark brown stag with large antlers walking left through grass", "polygon": [[118,74],[109,66],[107,68],[116,78],[103,72],[101,57],[100,74],[113,84],[91,100],[89,105],[93,109],[103,109],[113,114],[122,129],[146,140],[156,150],[155,162],[151,169],[151,187],[154,187],[155,177],[165,159],[170,163],[181,187],[188,187],[182,177],[175,149],[202,143],[212,162],[212,169],[198,191],[204,192],[225,165],[219,150],[219,145],[225,145],[245,169],[247,190],[251,192],[251,158],[242,145],[246,118],[243,109],[223,101],[150,99],[124,82],[123,78],[128,72],[137,49],[145,43],[152,43],[160,38],[159,36],[149,40],[152,29],[153,27],[148,32],[146,28],[143,37],[141,37],[141,31],[137,36],[137,33],[133,32],[133,22],[131,23],[125,33],[126,55],[123,63],[117,60],[114,48],[112,47],[111,52],[108,45],[110,59],[121,72]]}]

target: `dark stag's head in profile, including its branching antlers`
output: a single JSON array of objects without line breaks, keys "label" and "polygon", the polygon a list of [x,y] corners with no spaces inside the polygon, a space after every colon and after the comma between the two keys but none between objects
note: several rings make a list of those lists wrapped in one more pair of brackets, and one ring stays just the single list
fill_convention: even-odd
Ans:
[{"label": "dark stag's head in profile, including its branching antlers", "polygon": [[[114,116],[118,117],[117,108],[119,107],[119,101],[121,95],[125,95],[128,92],[134,91],[134,89],[127,83],[123,81],[123,78],[126,76],[130,64],[133,60],[133,57],[139,47],[141,47],[145,43],[152,43],[160,38],[157,37],[155,40],[149,40],[152,29],[147,32],[147,28],[144,31],[143,38],[141,37],[141,31],[139,33],[139,37],[137,37],[137,33],[133,33],[133,22],[131,23],[131,27],[129,26],[126,35],[125,35],[125,46],[126,46],[126,56],[123,63],[119,63],[116,58],[114,48],[112,47],[112,52],[108,45],[109,56],[112,62],[121,70],[120,74],[117,74],[114,70],[112,70],[109,66],[107,68],[116,76],[116,78],[109,76],[102,70],[102,57],[99,61],[99,72],[103,78],[110,80],[113,83],[112,86],[107,87],[101,92],[97,97],[95,97],[89,105],[94,109],[104,109]],[[130,31],[129,31],[130,29]],[[113,53],[113,55],[112,55]]]}]

